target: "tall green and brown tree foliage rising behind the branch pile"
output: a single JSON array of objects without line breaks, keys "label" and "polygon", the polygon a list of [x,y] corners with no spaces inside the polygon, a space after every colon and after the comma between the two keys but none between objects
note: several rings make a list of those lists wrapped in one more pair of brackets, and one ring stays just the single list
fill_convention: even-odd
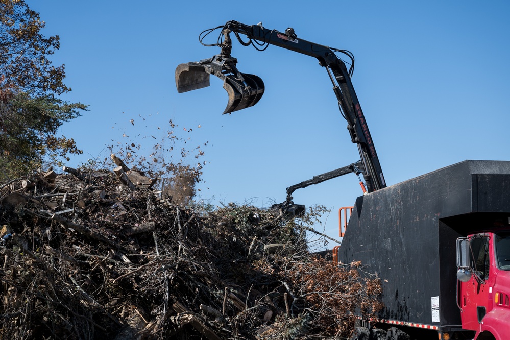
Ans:
[{"label": "tall green and brown tree foliage rising behind the branch pile", "polygon": [[49,56],[59,37],[45,37],[45,23],[24,0],[0,0],[0,178],[22,175],[43,161],[56,163],[78,154],[74,139],[57,137],[58,128],[80,116],[86,105],[58,98],[64,65]]}]

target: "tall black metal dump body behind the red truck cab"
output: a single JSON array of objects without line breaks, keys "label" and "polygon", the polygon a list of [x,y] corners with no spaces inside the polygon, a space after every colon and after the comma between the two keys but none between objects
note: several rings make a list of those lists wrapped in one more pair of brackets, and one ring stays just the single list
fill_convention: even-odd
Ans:
[{"label": "tall black metal dump body behind the red truck cab", "polygon": [[381,278],[381,319],[456,329],[455,240],[508,216],[510,161],[467,160],[358,197],[338,258]]}]

